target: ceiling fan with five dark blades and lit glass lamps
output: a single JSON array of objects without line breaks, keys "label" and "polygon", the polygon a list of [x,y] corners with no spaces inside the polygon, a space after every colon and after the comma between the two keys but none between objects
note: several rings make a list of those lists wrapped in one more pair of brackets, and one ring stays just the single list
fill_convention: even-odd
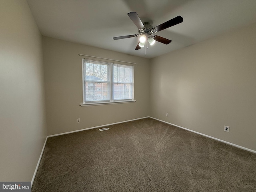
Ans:
[{"label": "ceiling fan with five dark blades and lit glass lamps", "polygon": [[175,17],[169,21],[166,21],[156,27],[152,27],[148,22],[142,23],[142,21],[140,20],[138,14],[136,12],[130,12],[130,13],[128,13],[128,16],[134,22],[134,24],[138,27],[139,34],[113,37],[113,39],[118,40],[118,39],[125,39],[125,38],[140,36],[140,41],[138,42],[138,44],[135,48],[136,50],[144,47],[145,42],[147,40],[150,45],[153,45],[155,43],[155,41],[164,43],[166,45],[169,44],[170,42],[172,42],[172,40],[157,36],[157,35],[155,35],[155,33],[158,31],[164,30],[168,27],[179,24],[183,21],[183,18],[181,16],[177,16],[177,17]]}]

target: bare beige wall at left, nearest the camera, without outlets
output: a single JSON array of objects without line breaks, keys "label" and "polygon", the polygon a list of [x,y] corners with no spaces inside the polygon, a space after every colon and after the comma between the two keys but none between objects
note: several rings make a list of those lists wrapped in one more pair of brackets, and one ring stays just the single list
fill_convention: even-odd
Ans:
[{"label": "bare beige wall at left, nearest the camera, without outlets", "polygon": [[42,36],[25,0],[0,1],[0,181],[31,181],[46,139]]}]

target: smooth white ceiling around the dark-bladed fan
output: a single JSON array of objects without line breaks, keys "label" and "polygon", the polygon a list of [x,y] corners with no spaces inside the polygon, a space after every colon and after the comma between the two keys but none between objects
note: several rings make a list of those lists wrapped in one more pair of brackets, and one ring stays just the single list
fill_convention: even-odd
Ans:
[{"label": "smooth white ceiling around the dark-bladed fan", "polygon": [[[125,54],[153,58],[256,23],[256,0],[27,0],[42,35]],[[127,13],[137,12],[153,27],[176,16],[183,22],[156,33],[172,40],[135,50],[138,28]]]}]

